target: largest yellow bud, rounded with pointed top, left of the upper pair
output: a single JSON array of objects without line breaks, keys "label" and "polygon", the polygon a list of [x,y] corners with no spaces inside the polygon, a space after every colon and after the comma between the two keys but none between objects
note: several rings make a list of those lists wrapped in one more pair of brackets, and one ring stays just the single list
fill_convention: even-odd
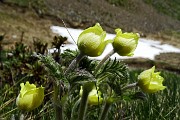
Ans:
[{"label": "largest yellow bud, rounded with pointed top, left of the upper pair", "polygon": [[105,42],[106,32],[100,24],[85,29],[78,37],[78,49],[85,55],[96,57],[103,53],[107,42]]}]

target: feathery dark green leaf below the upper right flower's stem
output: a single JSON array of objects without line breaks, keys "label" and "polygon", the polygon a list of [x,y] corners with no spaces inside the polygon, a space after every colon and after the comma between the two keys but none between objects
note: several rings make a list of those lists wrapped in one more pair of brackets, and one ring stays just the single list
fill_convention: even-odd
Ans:
[{"label": "feathery dark green leaf below the upper right flower's stem", "polygon": [[108,60],[102,69],[96,74],[99,84],[108,84],[116,95],[121,95],[121,88],[129,80],[129,72],[127,66],[121,61]]}]

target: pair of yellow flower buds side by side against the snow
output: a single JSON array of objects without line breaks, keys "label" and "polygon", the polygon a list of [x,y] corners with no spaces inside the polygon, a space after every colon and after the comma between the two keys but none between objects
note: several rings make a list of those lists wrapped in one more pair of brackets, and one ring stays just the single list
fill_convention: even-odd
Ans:
[{"label": "pair of yellow flower buds side by side against the snow", "polygon": [[115,52],[121,56],[132,56],[137,47],[138,33],[122,33],[116,29],[116,37],[112,40],[105,40],[106,32],[99,23],[85,29],[78,38],[77,45],[80,52],[90,57],[96,57],[103,53],[106,45],[112,43]]}]

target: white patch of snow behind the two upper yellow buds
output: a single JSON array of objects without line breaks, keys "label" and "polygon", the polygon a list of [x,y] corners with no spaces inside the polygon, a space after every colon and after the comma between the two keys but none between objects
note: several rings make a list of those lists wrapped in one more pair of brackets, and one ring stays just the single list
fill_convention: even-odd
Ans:
[{"label": "white patch of snow behind the two upper yellow buds", "polygon": [[[59,27],[59,26],[51,26],[50,29],[52,30],[53,33],[57,33],[59,35],[67,37],[68,41],[72,43],[72,44],[67,44],[64,47],[62,47],[61,48],[62,51],[64,51],[65,49],[71,49],[71,50],[77,49],[77,45],[76,45],[76,43],[74,43],[73,39],[75,40],[75,42],[77,42],[78,36],[80,35],[80,33],[83,30],[67,28],[69,31],[68,32],[65,27]],[[71,34],[73,39],[71,38],[69,33]],[[107,35],[106,35],[106,39],[113,39],[114,37],[115,37],[115,34],[107,33]],[[112,45],[108,44],[101,56],[94,57],[94,58],[90,57],[90,58],[100,60],[112,49],[113,49]],[[49,50],[49,52],[53,52],[53,51],[54,51],[54,49]],[[153,41],[150,39],[140,38],[138,46],[134,52],[134,56],[122,57],[122,56],[119,56],[118,54],[114,54],[113,56],[111,56],[111,58],[114,59],[116,57],[117,59],[126,59],[126,58],[142,57],[142,58],[149,58],[149,59],[153,60],[156,55],[159,55],[160,53],[165,53],[165,52],[180,53],[180,49],[173,47],[171,45],[168,45],[168,44],[161,44],[161,42],[159,42],[159,41]]]}]

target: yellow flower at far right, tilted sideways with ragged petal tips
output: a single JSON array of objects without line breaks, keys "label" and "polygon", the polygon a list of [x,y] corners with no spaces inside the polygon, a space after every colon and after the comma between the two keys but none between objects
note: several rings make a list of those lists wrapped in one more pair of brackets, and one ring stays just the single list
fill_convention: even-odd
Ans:
[{"label": "yellow flower at far right, tilted sideways with ragged petal tips", "polygon": [[146,93],[154,93],[166,88],[166,86],[163,86],[162,84],[164,78],[159,75],[160,72],[154,71],[155,66],[153,66],[151,69],[143,71],[138,76],[137,85]]}]

